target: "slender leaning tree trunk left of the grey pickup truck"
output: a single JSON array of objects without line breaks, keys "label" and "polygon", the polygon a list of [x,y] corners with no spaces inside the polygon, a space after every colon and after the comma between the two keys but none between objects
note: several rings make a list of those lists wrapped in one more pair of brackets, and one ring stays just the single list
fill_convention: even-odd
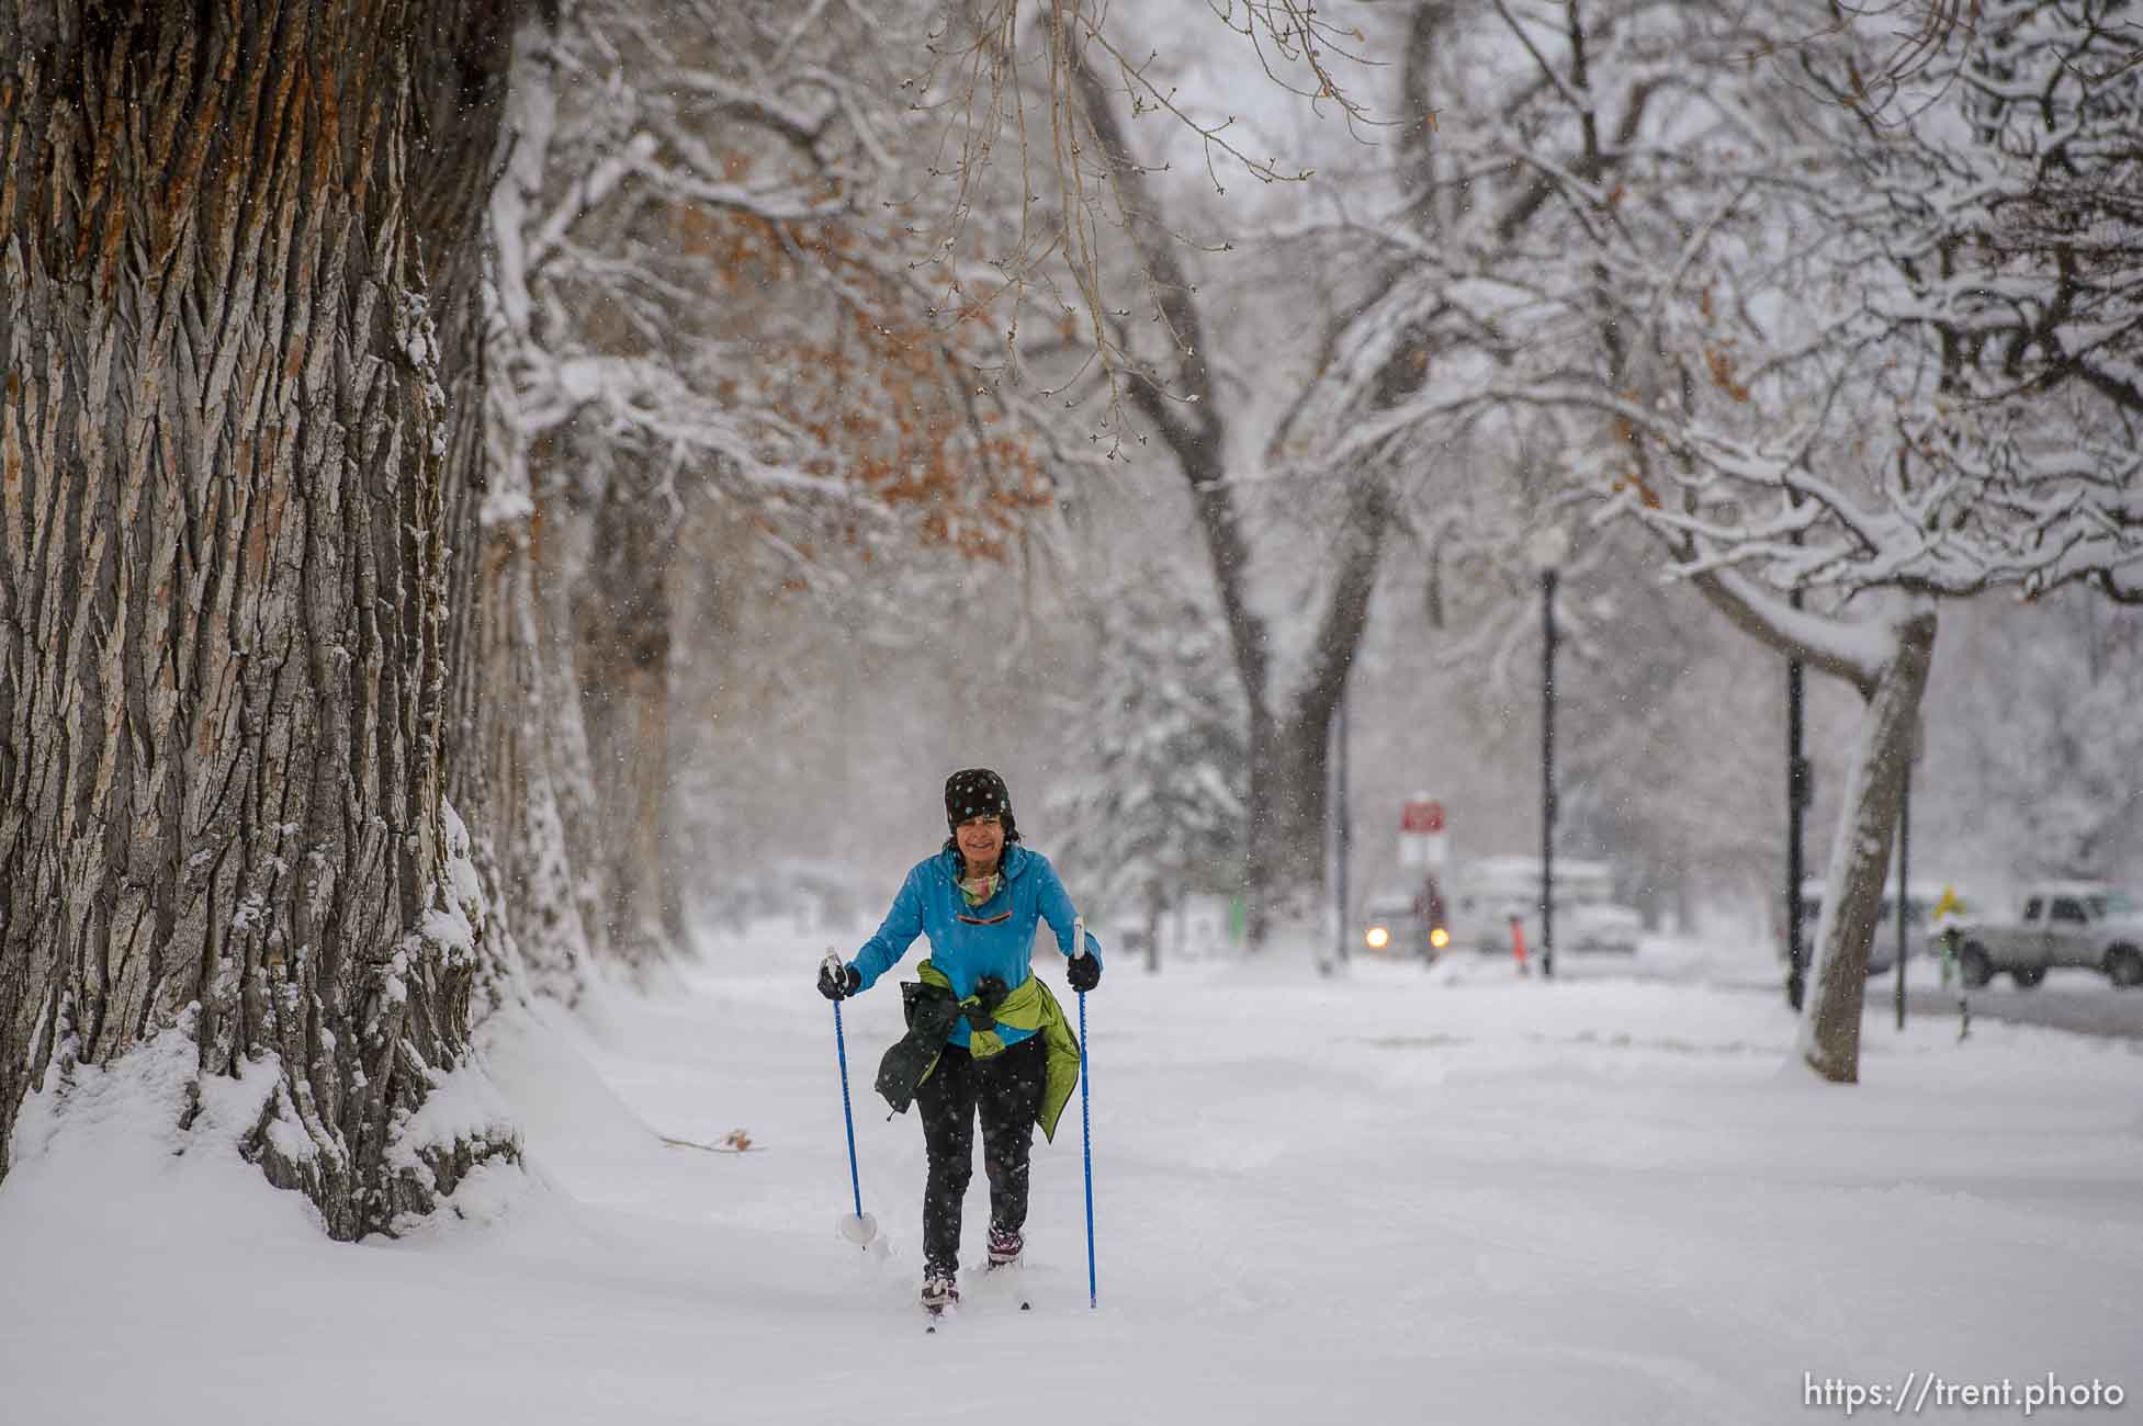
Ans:
[{"label": "slender leaning tree trunk left of the grey pickup truck", "polygon": [[1798,1053],[1824,1079],[1860,1077],[1860,1004],[1869,949],[1882,929],[1882,893],[1890,876],[1890,839],[1912,769],[1920,696],[1935,657],[1935,612],[1920,610],[1897,627],[1897,651],[1884,664],[1862,724],[1860,747],[1845,779],[1839,833],[1824,876],[1824,919],[1817,929],[1815,991],[1802,1011]]}]

